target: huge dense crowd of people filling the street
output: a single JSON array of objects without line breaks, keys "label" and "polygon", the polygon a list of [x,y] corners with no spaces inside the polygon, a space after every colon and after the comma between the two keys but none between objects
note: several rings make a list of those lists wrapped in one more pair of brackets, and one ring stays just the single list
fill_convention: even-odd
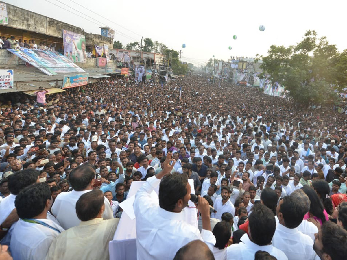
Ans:
[{"label": "huge dense crowd of people filling the street", "polygon": [[196,74],[36,96],[0,97],[0,259],[109,259],[134,181],[137,259],[346,259],[336,107]]}]

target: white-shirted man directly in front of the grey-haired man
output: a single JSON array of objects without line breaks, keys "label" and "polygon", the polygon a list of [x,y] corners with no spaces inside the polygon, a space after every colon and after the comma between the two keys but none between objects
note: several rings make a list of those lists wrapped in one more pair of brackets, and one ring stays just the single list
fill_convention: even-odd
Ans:
[{"label": "white-shirted man directly in front of the grey-haired man", "polygon": [[272,237],[272,245],[280,249],[288,260],[315,259],[312,239],[298,230],[306,212],[297,198],[286,196],[276,208],[279,223]]}]

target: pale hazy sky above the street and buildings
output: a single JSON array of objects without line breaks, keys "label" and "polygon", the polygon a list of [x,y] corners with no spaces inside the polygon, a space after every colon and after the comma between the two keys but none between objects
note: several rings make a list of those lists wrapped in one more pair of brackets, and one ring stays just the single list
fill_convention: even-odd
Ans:
[{"label": "pale hazy sky above the street and buildings", "polygon": [[[182,50],[181,60],[199,67],[213,55],[223,60],[231,56],[266,55],[271,45],[289,46],[300,42],[307,30],[326,36],[339,51],[347,49],[346,1],[3,2],[81,27],[88,33],[101,34],[99,27],[109,26],[116,30],[114,40],[120,41],[123,46],[129,42],[140,42],[141,36],[149,37],[174,50]],[[265,26],[265,31],[259,31],[260,25]],[[237,35],[236,40],[232,38],[234,34]],[[182,48],[182,44],[186,47]]]}]

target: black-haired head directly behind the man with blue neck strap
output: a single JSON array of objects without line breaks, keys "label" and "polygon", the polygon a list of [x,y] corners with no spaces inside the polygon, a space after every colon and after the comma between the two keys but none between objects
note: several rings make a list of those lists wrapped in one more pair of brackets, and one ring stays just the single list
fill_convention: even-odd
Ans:
[{"label": "black-haired head directly behind the man with blue neck strap", "polygon": [[34,169],[26,169],[8,177],[8,189],[14,195],[31,184],[38,181],[40,172]]}]

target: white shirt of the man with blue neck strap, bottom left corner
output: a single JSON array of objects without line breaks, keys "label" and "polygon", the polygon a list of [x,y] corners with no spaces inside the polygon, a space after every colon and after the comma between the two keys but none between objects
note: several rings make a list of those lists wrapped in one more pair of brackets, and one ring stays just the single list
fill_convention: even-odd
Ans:
[{"label": "white shirt of the man with blue neck strap, bottom left corner", "polygon": [[[50,219],[37,219],[60,232],[64,228]],[[14,260],[45,259],[49,246],[59,235],[58,231],[41,224],[25,222],[19,219],[11,236],[11,255]]]}]

